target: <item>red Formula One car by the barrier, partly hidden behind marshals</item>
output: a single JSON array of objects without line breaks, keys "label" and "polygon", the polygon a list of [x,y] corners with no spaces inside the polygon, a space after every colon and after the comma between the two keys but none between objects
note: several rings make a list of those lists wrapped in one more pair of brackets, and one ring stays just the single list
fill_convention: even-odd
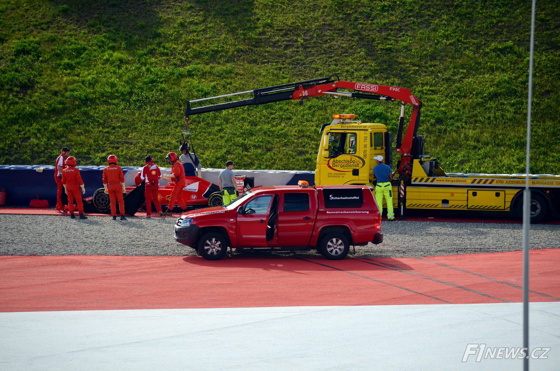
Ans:
[{"label": "red Formula One car by the barrier, partly hidden behind marshals", "polygon": [[[130,193],[136,187],[127,187],[125,193]],[[165,209],[169,204],[169,197],[173,190],[173,183],[169,182],[158,189],[157,198],[161,206]],[[105,194],[103,188],[97,189],[91,198],[91,203],[100,211],[110,208],[109,195]],[[220,188],[208,180],[198,177],[185,177],[185,187],[183,188],[183,200],[189,208],[201,208],[209,206],[223,205],[222,193]],[[125,203],[127,202],[125,198]],[[165,207],[164,207],[165,206]],[[155,210],[152,208],[152,210]]]}]

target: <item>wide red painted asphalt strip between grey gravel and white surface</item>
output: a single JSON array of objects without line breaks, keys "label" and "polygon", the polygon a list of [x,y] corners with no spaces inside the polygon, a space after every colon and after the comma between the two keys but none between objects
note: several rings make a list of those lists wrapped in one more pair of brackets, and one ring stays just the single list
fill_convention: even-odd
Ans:
[{"label": "wide red painted asphalt strip between grey gravel and white surface", "polygon": [[[560,301],[560,249],[530,259],[530,300]],[[521,302],[521,260],[1,256],[0,312]]]}]

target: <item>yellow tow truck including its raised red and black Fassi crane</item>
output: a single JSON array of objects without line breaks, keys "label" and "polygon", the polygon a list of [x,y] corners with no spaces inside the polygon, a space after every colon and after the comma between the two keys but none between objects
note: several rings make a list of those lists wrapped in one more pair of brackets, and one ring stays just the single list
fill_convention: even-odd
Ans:
[{"label": "yellow tow truck including its raised red and black Fassi crane", "polygon": [[[338,91],[346,89],[351,91]],[[253,98],[191,108],[190,104],[240,94]],[[332,80],[332,77],[301,81],[192,100],[185,117],[216,110],[319,95],[401,102],[395,151],[400,155],[393,176],[393,203],[404,208],[433,210],[513,211],[521,215],[525,174],[445,173],[437,159],[424,154],[424,137],[418,135],[422,102],[409,89],[398,86]],[[412,114],[403,135],[405,104]],[[362,123],[354,114],[335,114],[320,129],[322,136],[315,169],[315,185],[360,184],[374,187],[374,157],[382,155],[393,168],[393,136],[384,124]],[[556,217],[560,211],[560,175],[530,174],[531,222]],[[375,191],[374,191],[375,192]],[[396,197],[395,197],[396,196]]]}]

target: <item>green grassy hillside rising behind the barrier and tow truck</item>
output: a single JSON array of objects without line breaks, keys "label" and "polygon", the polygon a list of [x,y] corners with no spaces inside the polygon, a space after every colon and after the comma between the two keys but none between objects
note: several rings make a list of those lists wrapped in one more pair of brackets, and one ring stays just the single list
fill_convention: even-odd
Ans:
[{"label": "green grassy hillside rising behind the barrier and tow truck", "polygon": [[[539,2],[531,172],[560,174],[560,13]],[[447,171],[525,170],[529,1],[0,0],[0,164],[163,164],[187,100],[337,73],[403,86]],[[249,98],[249,97],[248,97]],[[191,118],[204,167],[315,169],[321,124],[400,104],[309,99]],[[408,109],[408,114],[410,109]]]}]

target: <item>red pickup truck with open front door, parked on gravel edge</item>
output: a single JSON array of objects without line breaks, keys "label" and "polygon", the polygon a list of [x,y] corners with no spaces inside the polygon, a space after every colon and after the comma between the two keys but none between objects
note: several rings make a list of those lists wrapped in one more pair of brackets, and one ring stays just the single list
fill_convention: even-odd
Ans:
[{"label": "red pickup truck with open front door, parked on gravel edge", "polygon": [[366,186],[252,188],[225,206],[182,214],[175,240],[208,260],[227,247],[274,251],[318,250],[343,259],[350,245],[383,241],[381,215]]}]

